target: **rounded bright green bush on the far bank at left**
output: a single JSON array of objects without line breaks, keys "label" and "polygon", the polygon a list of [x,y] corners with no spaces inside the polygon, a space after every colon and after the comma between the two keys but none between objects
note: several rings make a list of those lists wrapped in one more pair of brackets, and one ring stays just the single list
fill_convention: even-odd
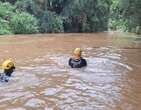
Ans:
[{"label": "rounded bright green bush on the far bank at left", "polygon": [[16,13],[10,20],[10,26],[15,34],[31,34],[38,32],[37,19],[25,12]]}]

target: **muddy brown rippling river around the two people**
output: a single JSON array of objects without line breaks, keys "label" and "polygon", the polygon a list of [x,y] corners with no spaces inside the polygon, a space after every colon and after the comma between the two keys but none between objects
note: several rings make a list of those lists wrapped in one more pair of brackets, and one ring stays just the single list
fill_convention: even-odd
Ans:
[{"label": "muddy brown rippling river around the two people", "polygon": [[[68,66],[76,47],[85,68]],[[141,110],[141,36],[1,36],[0,60],[9,57],[17,68],[0,83],[0,110]]]}]

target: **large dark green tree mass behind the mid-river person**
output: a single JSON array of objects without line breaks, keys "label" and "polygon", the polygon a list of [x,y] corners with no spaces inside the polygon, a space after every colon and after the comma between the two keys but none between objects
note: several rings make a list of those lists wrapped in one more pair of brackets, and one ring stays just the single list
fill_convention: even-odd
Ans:
[{"label": "large dark green tree mass behind the mid-river person", "polygon": [[71,0],[63,8],[66,31],[97,32],[108,30],[109,0]]}]

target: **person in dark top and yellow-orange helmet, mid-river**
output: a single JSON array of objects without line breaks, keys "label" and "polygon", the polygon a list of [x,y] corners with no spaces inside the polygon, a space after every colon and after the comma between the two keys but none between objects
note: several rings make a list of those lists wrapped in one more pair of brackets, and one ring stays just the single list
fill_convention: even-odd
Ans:
[{"label": "person in dark top and yellow-orange helmet, mid-river", "polygon": [[80,48],[76,48],[73,51],[73,57],[69,59],[69,65],[72,68],[81,68],[87,66],[87,62],[82,58],[82,50]]}]

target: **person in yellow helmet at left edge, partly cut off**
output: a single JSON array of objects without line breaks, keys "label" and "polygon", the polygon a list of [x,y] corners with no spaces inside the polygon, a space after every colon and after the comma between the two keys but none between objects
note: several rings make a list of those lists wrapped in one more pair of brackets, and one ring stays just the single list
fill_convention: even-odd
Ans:
[{"label": "person in yellow helmet at left edge, partly cut off", "polygon": [[0,73],[0,81],[8,82],[9,77],[11,77],[12,73],[15,70],[14,63],[11,59],[7,59],[2,63],[3,73]]}]

